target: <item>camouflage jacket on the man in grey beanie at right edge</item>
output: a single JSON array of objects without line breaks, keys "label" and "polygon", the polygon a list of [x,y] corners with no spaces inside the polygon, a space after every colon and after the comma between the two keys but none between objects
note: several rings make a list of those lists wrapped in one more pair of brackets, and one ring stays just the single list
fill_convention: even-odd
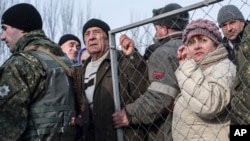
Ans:
[{"label": "camouflage jacket on the man in grey beanie at right edge", "polygon": [[246,26],[241,44],[235,48],[237,74],[232,98],[232,123],[250,124],[250,27]]}]

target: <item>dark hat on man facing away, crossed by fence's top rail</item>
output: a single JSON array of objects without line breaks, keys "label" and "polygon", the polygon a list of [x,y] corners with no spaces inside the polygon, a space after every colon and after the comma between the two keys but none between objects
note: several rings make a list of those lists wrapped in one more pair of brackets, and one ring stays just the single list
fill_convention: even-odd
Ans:
[{"label": "dark hat on man facing away, crossed by fence's top rail", "polygon": [[[164,13],[167,13],[167,12],[179,9],[179,8],[182,8],[182,6],[180,6],[177,3],[170,3],[166,5],[165,7],[163,7],[159,14],[164,14]],[[163,18],[159,21],[156,21],[154,24],[166,26],[168,28],[181,31],[186,27],[186,25],[188,24],[188,21],[189,21],[189,13],[183,12],[183,13],[178,13],[176,15]]]}]

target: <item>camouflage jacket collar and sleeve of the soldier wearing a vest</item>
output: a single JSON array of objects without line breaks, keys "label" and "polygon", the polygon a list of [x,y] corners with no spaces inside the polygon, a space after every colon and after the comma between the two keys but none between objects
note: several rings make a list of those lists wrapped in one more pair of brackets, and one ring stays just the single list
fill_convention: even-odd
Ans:
[{"label": "camouflage jacket collar and sleeve of the soldier wearing a vest", "polygon": [[28,106],[44,94],[46,72],[25,47],[39,45],[57,56],[63,52],[42,30],[32,31],[19,39],[12,56],[0,68],[0,140],[18,140],[27,125]]}]

